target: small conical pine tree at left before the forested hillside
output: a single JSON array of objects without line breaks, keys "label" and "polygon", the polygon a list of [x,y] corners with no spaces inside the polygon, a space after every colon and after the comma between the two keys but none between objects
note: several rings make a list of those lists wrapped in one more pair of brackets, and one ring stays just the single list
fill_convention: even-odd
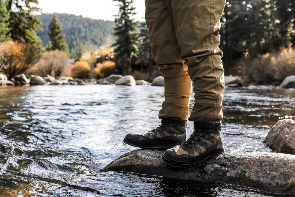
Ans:
[{"label": "small conical pine tree at left before the forested hillside", "polygon": [[68,45],[65,41],[63,28],[56,15],[53,16],[49,26],[49,39],[51,42],[51,50],[68,51]]}]

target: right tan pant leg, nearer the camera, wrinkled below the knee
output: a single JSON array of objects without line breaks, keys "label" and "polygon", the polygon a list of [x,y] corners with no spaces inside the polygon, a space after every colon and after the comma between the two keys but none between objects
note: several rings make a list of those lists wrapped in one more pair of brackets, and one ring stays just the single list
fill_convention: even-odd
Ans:
[{"label": "right tan pant leg, nearer the camera, wrinkled below the knee", "polygon": [[173,15],[181,59],[194,82],[195,105],[190,121],[221,123],[224,70],[220,18],[225,0],[167,0]]}]

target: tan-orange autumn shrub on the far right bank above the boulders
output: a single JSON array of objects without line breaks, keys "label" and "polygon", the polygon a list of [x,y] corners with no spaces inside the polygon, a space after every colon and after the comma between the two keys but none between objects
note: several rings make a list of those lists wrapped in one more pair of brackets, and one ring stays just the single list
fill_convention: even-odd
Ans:
[{"label": "tan-orange autumn shrub on the far right bank above the boulders", "polygon": [[295,49],[285,48],[276,53],[266,53],[258,58],[246,56],[238,62],[241,75],[250,82],[280,83],[295,75]]}]

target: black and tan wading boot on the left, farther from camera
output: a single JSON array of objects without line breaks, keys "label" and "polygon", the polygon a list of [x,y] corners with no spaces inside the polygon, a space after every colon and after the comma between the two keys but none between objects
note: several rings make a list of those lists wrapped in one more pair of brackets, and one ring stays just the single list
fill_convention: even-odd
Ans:
[{"label": "black and tan wading boot on the left, farther from camera", "polygon": [[145,134],[129,133],[124,142],[139,148],[170,149],[186,141],[186,122],[163,118],[157,128]]}]

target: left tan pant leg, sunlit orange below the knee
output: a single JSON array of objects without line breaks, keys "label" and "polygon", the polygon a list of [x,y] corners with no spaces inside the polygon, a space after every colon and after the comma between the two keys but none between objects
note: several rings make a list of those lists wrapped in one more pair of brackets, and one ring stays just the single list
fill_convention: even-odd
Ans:
[{"label": "left tan pant leg, sunlit orange below the knee", "polygon": [[161,75],[165,78],[165,101],[159,118],[186,121],[192,82],[187,72],[188,67],[181,60],[172,16],[164,0],[145,0],[145,5],[152,52]]}]

